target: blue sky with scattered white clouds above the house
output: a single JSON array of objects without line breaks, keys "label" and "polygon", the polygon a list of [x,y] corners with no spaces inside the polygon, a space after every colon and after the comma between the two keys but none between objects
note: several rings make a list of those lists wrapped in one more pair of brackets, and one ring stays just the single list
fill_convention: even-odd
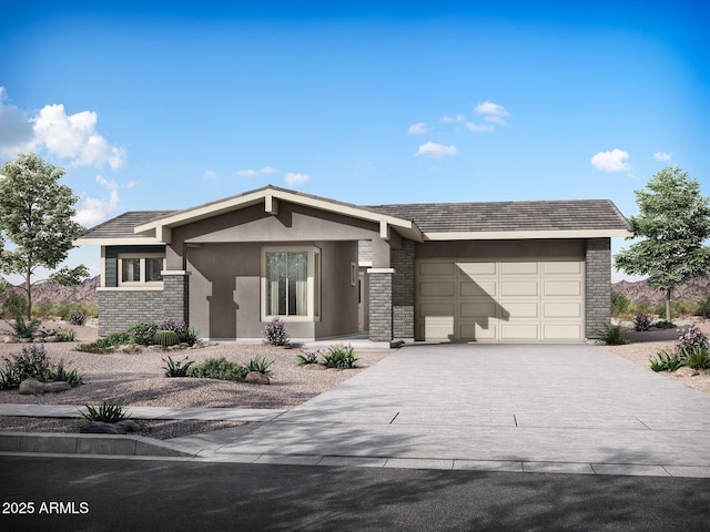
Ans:
[{"label": "blue sky with scattered white clouds above the house", "polygon": [[[677,164],[710,195],[703,2],[17,3],[0,161],[65,167],[85,226],[267,183],[633,215],[633,191]],[[98,273],[98,249],[80,262]]]}]

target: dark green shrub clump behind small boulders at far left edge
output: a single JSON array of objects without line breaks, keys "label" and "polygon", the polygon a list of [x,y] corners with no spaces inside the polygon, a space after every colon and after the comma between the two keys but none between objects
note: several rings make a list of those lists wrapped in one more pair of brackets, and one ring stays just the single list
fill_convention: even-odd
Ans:
[{"label": "dark green shrub clump behind small boulders at far left edge", "polygon": [[27,379],[37,379],[40,382],[65,380],[71,386],[83,382],[83,376],[77,369],[65,369],[63,360],[59,362],[51,360],[41,344],[30,344],[11,358],[3,358],[3,367],[0,368],[0,389],[18,388],[20,382]]}]

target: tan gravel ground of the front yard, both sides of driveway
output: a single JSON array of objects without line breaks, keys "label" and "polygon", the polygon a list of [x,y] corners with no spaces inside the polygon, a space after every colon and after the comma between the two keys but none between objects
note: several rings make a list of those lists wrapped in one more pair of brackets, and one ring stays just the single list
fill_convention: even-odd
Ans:
[{"label": "tan gravel ground of the front yard, both sides of driveway", "polygon": [[[710,324],[694,321],[703,334],[710,336]],[[49,324],[58,326],[58,324]],[[63,324],[62,324],[63,325]],[[623,325],[623,324],[622,324]],[[71,327],[81,342],[97,338],[94,327]],[[672,349],[677,338],[674,329],[633,331],[628,324],[625,337],[632,342],[623,346],[602,346],[627,360],[651,371],[648,359],[660,349]],[[1,335],[0,335],[1,336]],[[17,390],[0,391],[0,402],[31,405],[85,405],[115,400],[126,407],[209,407],[209,408],[270,408],[291,409],[376,364],[387,352],[357,352],[359,368],[347,370],[306,371],[298,367],[295,357],[298,349],[277,348],[268,345],[237,342],[210,345],[199,349],[169,351],[174,360],[185,356],[201,362],[207,358],[225,357],[240,364],[252,357],[273,360],[274,377],[268,386],[231,382],[212,379],[166,378],[161,369],[166,351],[143,348],[139,354],[93,355],[75,351],[78,342],[44,344],[54,359],[63,358],[68,367],[77,367],[85,375],[85,383],[60,393],[24,396]],[[0,358],[19,352],[21,344],[0,344]],[[710,393],[710,374],[681,377],[661,372],[667,378],[690,388]],[[78,431],[78,419],[47,419],[0,417],[0,430],[4,431]],[[176,438],[195,432],[217,430],[242,424],[227,421],[159,421],[143,422],[145,436],[159,439]]]}]

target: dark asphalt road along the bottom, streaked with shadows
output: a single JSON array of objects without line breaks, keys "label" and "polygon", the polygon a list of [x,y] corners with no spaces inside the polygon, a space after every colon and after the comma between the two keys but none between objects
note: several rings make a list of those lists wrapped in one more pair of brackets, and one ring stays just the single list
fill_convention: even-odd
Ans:
[{"label": "dark asphalt road along the bottom, streaked with shadows", "polygon": [[659,477],[3,456],[0,501],[2,531],[710,529],[710,479]]}]

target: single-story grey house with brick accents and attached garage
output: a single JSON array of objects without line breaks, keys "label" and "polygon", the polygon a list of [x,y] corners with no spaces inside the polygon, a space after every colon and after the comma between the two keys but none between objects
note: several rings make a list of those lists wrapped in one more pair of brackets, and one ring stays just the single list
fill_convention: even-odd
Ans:
[{"label": "single-story grey house with brick accents and attached garage", "polygon": [[359,206],[275,186],[129,212],[101,246],[99,334],[184,320],[211,339],[580,342],[609,324],[606,200]]}]

